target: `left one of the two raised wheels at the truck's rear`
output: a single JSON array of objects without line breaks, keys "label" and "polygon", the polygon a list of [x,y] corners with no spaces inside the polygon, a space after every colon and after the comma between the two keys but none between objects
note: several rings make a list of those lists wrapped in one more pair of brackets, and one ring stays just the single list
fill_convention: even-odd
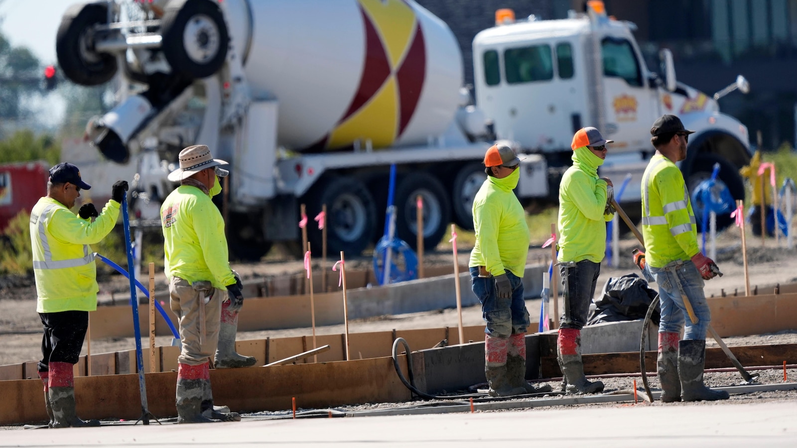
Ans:
[{"label": "left one of the two raised wheels at the truck's rear", "polygon": [[104,84],[116,74],[116,57],[94,51],[94,26],[107,23],[108,7],[104,3],[70,6],[61,18],[55,38],[58,65],[75,84]]}]

